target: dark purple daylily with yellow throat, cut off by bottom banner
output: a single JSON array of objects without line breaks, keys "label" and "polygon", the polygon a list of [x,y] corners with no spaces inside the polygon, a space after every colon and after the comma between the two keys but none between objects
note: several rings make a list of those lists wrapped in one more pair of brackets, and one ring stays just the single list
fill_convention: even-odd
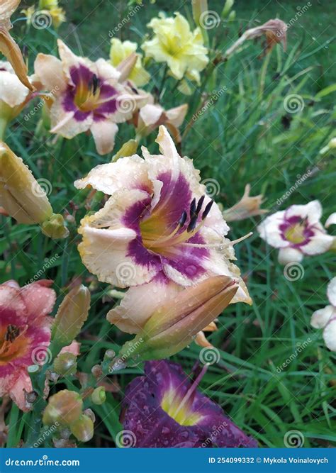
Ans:
[{"label": "dark purple daylily with yellow throat, cut off by bottom banner", "polygon": [[165,360],[146,362],[145,375],[128,385],[121,423],[134,447],[257,447],[223,409],[197,390],[196,379]]}]

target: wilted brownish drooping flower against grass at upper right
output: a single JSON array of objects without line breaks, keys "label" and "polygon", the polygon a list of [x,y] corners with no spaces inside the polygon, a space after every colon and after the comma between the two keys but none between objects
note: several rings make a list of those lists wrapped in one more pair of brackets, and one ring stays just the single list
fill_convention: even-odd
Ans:
[{"label": "wilted brownish drooping flower against grass at upper right", "polygon": [[253,40],[254,38],[259,38],[259,36],[265,35],[266,37],[266,50],[265,53],[269,52],[276,43],[282,43],[284,45],[284,50],[286,50],[287,44],[287,26],[284,21],[276,18],[275,20],[269,20],[263,25],[257,26],[256,28],[250,28],[243,33],[239,40],[237,40],[227,51],[225,51],[225,57],[229,57],[240,46],[245,43],[246,40]]}]

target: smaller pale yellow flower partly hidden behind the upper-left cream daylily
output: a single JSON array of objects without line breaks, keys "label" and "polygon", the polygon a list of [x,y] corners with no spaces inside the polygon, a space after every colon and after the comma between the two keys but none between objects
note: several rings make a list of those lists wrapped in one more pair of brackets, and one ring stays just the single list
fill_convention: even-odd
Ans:
[{"label": "smaller pale yellow flower partly hidden behind the upper-left cream daylily", "polygon": [[[138,48],[137,43],[131,41],[121,41],[118,38],[111,39],[110,60],[111,65],[117,67],[123,60],[127,59]],[[130,72],[128,78],[138,87],[142,87],[150,80],[150,74],[142,66],[142,55],[137,54],[137,61]]]}]

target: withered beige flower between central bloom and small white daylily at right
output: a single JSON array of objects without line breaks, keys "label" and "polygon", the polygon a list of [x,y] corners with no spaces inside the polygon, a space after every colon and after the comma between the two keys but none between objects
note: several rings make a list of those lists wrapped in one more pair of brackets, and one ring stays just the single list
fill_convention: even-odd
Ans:
[{"label": "withered beige flower between central bloom and small white daylily at right", "polygon": [[264,196],[261,194],[259,196],[250,196],[251,186],[247,184],[245,187],[244,195],[237,204],[233,207],[228,208],[228,210],[223,211],[223,217],[227,222],[233,222],[237,220],[244,220],[245,218],[254,217],[257,215],[263,215],[268,211],[261,208],[262,201]]}]

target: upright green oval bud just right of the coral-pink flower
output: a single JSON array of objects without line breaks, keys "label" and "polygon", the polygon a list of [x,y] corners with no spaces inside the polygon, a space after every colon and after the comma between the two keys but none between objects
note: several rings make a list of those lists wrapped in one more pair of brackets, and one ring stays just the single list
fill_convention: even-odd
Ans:
[{"label": "upright green oval bud just right of the coral-pink flower", "polygon": [[52,341],[57,348],[70,345],[77,337],[89,314],[90,299],[90,291],[83,284],[65,296],[52,325]]}]

